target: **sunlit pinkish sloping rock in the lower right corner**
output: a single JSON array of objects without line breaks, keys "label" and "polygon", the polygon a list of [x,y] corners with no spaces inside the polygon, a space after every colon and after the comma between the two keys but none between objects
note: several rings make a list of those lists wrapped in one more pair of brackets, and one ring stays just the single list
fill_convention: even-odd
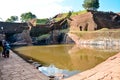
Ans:
[{"label": "sunlit pinkish sloping rock in the lower right corner", "polygon": [[64,80],[120,80],[120,53],[95,68]]}]

